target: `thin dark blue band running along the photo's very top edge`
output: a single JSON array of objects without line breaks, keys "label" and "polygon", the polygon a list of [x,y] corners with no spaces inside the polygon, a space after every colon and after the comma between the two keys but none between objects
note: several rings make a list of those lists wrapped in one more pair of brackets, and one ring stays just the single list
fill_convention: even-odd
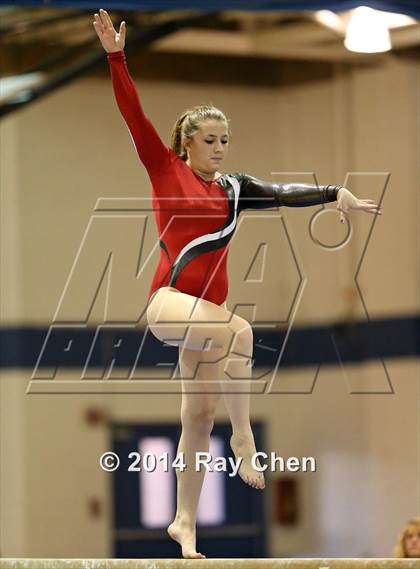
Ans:
[{"label": "thin dark blue band running along the photo's very top edge", "polygon": [[[0,0],[0,5],[10,6],[10,0]],[[120,10],[158,11],[158,10],[323,10],[333,12],[350,10],[357,6],[370,6],[377,10],[399,12],[414,18],[420,17],[418,0],[21,0],[14,6],[38,6],[40,8],[82,8],[98,10],[98,7]]]}]

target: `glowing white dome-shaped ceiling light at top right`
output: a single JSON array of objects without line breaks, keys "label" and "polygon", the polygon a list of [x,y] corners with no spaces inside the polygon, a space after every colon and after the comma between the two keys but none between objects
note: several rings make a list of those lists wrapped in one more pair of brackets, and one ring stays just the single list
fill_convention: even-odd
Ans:
[{"label": "glowing white dome-shaped ceiling light at top right", "polygon": [[377,10],[367,6],[353,10],[344,45],[349,51],[359,53],[379,53],[391,49],[388,26]]}]

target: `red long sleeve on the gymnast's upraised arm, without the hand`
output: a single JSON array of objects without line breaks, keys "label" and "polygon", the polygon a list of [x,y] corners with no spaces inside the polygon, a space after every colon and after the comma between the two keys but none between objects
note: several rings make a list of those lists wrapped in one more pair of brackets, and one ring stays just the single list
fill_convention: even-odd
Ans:
[{"label": "red long sleeve on the gymnast's upraised arm, without the hand", "polygon": [[170,163],[169,149],[144,114],[136,86],[128,72],[124,51],[108,53],[107,59],[115,99],[140,160],[148,172],[165,169]]}]

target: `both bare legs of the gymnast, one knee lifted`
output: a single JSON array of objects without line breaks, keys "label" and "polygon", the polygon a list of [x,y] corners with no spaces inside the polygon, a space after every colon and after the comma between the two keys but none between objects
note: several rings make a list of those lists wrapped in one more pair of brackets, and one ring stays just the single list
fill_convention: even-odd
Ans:
[{"label": "both bare legs of the gymnast, one knee lifted", "polygon": [[[234,432],[232,449],[243,460],[239,474],[254,487],[263,487],[264,483],[250,462],[255,445],[249,424],[249,393],[243,393],[243,385],[230,379],[251,378],[252,329],[246,320],[225,308],[171,287],[163,287],[156,293],[149,304],[147,319],[158,339],[180,346],[183,395],[178,451],[184,452],[187,469],[177,471],[177,514],[168,533],[180,543],[184,557],[203,558],[196,551],[195,522],[204,472],[195,472],[194,464],[196,452],[206,452],[209,448],[220,398],[221,384],[217,380],[230,380],[225,389],[233,390],[225,395]],[[242,393],[237,393],[238,390]]]}]

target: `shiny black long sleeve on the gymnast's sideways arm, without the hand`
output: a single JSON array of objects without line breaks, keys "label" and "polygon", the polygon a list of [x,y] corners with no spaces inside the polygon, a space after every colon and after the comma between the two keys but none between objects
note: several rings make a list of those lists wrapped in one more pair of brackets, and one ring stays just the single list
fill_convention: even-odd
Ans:
[{"label": "shiny black long sleeve on the gymnast's sideways arm, without the hand", "polygon": [[246,174],[237,175],[240,181],[240,209],[266,209],[270,207],[305,207],[337,199],[343,186],[289,183],[274,184]]}]

